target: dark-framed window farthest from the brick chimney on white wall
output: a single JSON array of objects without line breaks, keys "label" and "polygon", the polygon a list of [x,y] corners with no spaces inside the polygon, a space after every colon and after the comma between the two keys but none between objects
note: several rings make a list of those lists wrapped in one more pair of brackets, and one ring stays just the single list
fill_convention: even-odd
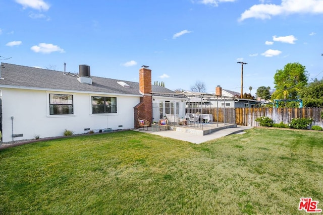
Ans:
[{"label": "dark-framed window farthest from the brick chimney on white wall", "polygon": [[49,94],[49,114],[73,114],[73,95]]}]

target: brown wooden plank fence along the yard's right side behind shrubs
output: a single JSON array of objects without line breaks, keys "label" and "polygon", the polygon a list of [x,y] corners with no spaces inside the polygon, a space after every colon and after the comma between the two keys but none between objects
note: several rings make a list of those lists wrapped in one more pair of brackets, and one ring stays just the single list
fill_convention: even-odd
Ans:
[{"label": "brown wooden plank fence along the yard's right side behind shrubs", "polygon": [[203,113],[212,114],[214,122],[237,123],[245,126],[259,126],[256,118],[267,116],[274,123],[288,124],[293,118],[313,118],[312,125],[323,127],[323,108],[205,108]]}]

